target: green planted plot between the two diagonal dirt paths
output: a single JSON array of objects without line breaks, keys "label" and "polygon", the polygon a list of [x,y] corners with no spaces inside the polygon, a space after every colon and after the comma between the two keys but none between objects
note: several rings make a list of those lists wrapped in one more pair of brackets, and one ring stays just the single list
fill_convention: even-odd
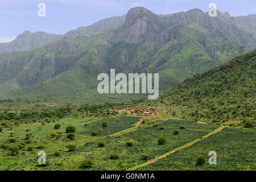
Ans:
[{"label": "green planted plot between the two diagonal dirt paths", "polygon": [[[180,129],[180,126],[185,126],[185,129]],[[43,168],[32,164],[35,161],[27,163],[38,170],[79,170],[81,161],[89,159],[93,165],[86,168],[87,170],[126,170],[145,162],[142,159],[143,154],[146,154],[148,159],[153,159],[216,128],[217,126],[192,121],[168,120],[159,123],[158,126],[141,127],[123,135],[88,142],[77,150],[63,152],[60,156],[50,155],[48,165]],[[174,130],[179,130],[179,134],[174,135]],[[166,138],[165,144],[158,144],[160,136]],[[127,140],[132,141],[133,146],[127,146]],[[98,147],[98,142],[103,142],[105,146]],[[117,154],[119,158],[110,159],[111,154]]]}]

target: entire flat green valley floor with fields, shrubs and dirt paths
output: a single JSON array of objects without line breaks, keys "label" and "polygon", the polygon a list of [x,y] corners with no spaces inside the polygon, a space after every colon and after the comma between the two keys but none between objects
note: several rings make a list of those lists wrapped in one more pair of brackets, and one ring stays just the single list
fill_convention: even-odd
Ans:
[{"label": "entire flat green valley floor with fields, shrubs and dirt paths", "polygon": [[[53,129],[56,123],[61,125],[58,130]],[[69,125],[76,128],[73,140],[65,133]],[[0,135],[0,170],[256,170],[255,129],[119,113],[114,118],[22,123],[12,132],[10,137],[9,129],[3,129]],[[56,133],[59,138],[52,135]],[[159,144],[160,137],[166,143]],[[11,155],[7,143],[20,146],[19,153]],[[77,148],[69,151],[67,144]],[[39,151],[46,152],[46,165],[38,164]],[[209,151],[216,152],[216,165],[208,164]],[[203,166],[196,165],[198,156],[204,156]],[[83,160],[92,166],[81,168]]]}]

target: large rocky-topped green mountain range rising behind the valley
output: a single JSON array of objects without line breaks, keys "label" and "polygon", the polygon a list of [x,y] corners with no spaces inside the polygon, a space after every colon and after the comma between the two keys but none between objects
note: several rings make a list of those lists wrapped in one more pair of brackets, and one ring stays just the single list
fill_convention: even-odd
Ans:
[{"label": "large rocky-topped green mountain range rising behind the valley", "polygon": [[216,17],[199,9],[157,15],[136,7],[56,36],[60,40],[46,46],[2,53],[0,100],[13,106],[103,104],[142,97],[98,94],[97,75],[110,68],[126,74],[159,73],[164,91],[255,49],[256,33],[247,29],[253,29],[252,24],[243,27],[238,22],[220,11]]}]

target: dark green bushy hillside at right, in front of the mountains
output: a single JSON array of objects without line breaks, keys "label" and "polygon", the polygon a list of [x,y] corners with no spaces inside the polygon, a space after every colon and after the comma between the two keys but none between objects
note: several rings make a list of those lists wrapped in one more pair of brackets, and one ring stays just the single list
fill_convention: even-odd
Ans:
[{"label": "dark green bushy hillside at right, in front of the mountains", "polygon": [[207,122],[255,122],[256,50],[177,84],[159,96],[181,117]]}]

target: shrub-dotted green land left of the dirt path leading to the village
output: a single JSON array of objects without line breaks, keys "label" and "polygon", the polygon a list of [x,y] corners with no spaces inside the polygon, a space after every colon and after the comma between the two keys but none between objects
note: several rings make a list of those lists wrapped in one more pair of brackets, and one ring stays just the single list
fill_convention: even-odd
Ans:
[{"label": "shrub-dotted green land left of the dirt path leading to the village", "polygon": [[[19,126],[10,129],[4,129],[0,136],[0,170],[4,169],[32,169],[38,165],[38,151],[45,151],[47,158],[53,156],[56,150],[67,151],[67,144],[72,143],[76,146],[84,145],[86,142],[91,142],[121,130],[133,127],[133,124],[139,121],[139,117],[118,117],[99,119],[75,119],[64,118],[57,122],[50,123],[22,123]],[[107,126],[102,127],[102,122],[106,122]],[[61,127],[54,129],[56,123]],[[70,140],[67,138],[65,129],[67,126],[75,127],[75,138]],[[96,136],[92,135],[93,131],[97,131]],[[59,138],[52,137],[52,134],[61,133]],[[30,138],[26,139],[26,135],[30,134]],[[11,137],[12,135],[12,137]],[[15,142],[9,142],[9,139],[14,138]],[[18,146],[19,152],[15,155],[10,155],[7,150],[8,145]],[[32,148],[28,150],[28,148]],[[65,158],[63,156],[63,158]],[[24,163],[32,162],[30,165]]]}]

